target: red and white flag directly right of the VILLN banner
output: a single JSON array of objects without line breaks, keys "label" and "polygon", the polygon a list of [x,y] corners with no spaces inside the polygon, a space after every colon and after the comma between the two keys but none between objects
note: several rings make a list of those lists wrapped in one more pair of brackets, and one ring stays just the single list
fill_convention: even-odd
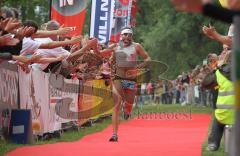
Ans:
[{"label": "red and white flag directly right of the VILLN banner", "polygon": [[116,0],[111,41],[119,42],[121,29],[130,25],[132,0]]}]

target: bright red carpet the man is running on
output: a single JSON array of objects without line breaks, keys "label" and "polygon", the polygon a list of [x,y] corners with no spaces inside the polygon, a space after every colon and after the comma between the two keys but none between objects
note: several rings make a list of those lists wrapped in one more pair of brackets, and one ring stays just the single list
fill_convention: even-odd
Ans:
[{"label": "bright red carpet the man is running on", "polygon": [[119,141],[108,142],[111,126],[78,142],[18,148],[9,156],[201,156],[209,115],[192,120],[135,119],[120,125]]}]

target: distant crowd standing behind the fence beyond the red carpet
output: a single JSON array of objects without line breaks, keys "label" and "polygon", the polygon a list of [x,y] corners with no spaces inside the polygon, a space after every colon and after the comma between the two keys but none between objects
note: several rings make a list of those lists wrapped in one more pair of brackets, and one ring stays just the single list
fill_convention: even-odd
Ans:
[{"label": "distant crowd standing behind the fence beyond the red carpet", "polygon": [[163,80],[154,84],[154,91],[148,92],[145,88],[149,84],[138,85],[137,103],[143,104],[193,104],[197,106],[213,107],[213,93],[211,90],[204,90],[200,84],[178,82],[178,80]]}]

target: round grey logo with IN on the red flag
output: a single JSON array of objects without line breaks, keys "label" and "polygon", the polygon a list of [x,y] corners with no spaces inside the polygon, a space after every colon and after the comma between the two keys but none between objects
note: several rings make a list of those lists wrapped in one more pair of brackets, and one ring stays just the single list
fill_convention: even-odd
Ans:
[{"label": "round grey logo with IN on the red flag", "polygon": [[63,16],[73,16],[87,7],[87,0],[52,0],[52,7]]}]

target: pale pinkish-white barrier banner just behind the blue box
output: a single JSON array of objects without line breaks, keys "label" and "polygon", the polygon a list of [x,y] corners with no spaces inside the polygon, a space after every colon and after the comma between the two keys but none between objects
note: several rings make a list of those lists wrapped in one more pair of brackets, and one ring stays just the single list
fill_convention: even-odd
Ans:
[{"label": "pale pinkish-white barrier banner just behind the blue box", "polygon": [[[26,74],[19,69],[20,109],[30,109],[33,134],[43,135],[54,131],[51,128],[52,113],[49,108],[48,76],[31,70]],[[59,130],[59,127],[57,130]]]}]

